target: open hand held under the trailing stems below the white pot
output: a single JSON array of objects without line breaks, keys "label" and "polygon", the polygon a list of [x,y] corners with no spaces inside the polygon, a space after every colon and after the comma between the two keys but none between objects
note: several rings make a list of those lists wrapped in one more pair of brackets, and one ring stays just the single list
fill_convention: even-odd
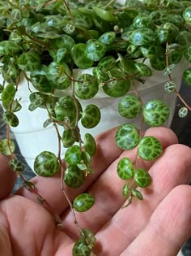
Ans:
[{"label": "open hand held under the trailing stems below the white pot", "polygon": [[[144,201],[133,200],[121,210],[125,182],[117,177],[121,157],[132,160],[136,149],[122,151],[115,145],[116,129],[97,137],[98,149],[92,165],[95,172],[81,189],[67,189],[70,200],[80,192],[91,193],[96,204],[77,213],[82,228],[96,234],[94,254],[99,256],[176,256],[191,234],[191,149],[177,144],[168,128],[150,128],[146,136],[159,139],[163,155],[156,161],[138,158],[137,167],[146,167],[152,176],[151,186],[141,189]],[[59,174],[51,178],[35,177],[37,192],[52,206],[49,212],[36,202],[36,195],[19,189],[7,197],[15,174],[8,159],[0,155],[0,248],[1,256],[70,256],[78,230],[74,225],[66,198],[61,192]],[[9,176],[9,182],[4,181]],[[6,187],[7,185],[7,187]],[[3,192],[4,191],[4,192]],[[72,192],[71,192],[72,191]],[[55,227],[52,214],[63,219],[62,229]]]}]

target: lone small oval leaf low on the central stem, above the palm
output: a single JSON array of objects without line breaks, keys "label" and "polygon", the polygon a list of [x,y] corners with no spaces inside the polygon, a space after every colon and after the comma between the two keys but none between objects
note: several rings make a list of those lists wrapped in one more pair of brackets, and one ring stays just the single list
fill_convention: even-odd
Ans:
[{"label": "lone small oval leaf low on the central stem, above the palm", "polygon": [[83,212],[91,209],[91,207],[94,204],[95,204],[95,199],[94,197],[91,196],[90,193],[81,193],[74,198],[73,207],[74,207],[74,210]]}]

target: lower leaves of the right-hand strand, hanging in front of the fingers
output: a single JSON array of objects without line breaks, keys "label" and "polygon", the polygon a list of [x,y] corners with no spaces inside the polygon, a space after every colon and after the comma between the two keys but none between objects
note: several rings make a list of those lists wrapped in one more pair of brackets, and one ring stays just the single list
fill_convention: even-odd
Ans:
[{"label": "lower leaves of the right-hand strand, hanging in front of the fingers", "polygon": [[[138,131],[132,124],[123,124],[121,128],[123,128],[123,132],[128,133],[128,141],[125,141],[127,147],[125,147],[125,144],[123,144],[123,150],[130,150],[137,146],[138,156],[145,161],[155,160],[163,153],[163,147],[157,138],[151,136],[139,138]],[[117,131],[117,141],[119,141],[119,132],[121,132],[121,128],[119,128]],[[133,142],[129,147],[130,140]],[[123,141],[122,138],[121,141]],[[121,143],[118,145],[121,147]],[[133,197],[138,197],[139,200],[142,200],[142,193],[138,189],[135,189],[134,185],[139,188],[148,187],[151,184],[151,176],[149,172],[144,168],[137,168],[136,160],[134,163],[132,163],[129,158],[125,157],[121,158],[117,164],[117,174],[122,180],[126,181],[122,189],[122,194],[123,197],[128,197],[127,205],[129,205]]]}]

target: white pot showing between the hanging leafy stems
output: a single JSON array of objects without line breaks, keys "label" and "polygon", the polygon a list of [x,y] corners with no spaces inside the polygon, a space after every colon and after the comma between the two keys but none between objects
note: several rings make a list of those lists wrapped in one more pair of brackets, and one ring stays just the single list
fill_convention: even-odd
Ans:
[{"label": "white pot showing between the hanging leafy stems", "polygon": [[[172,72],[172,77],[177,85],[177,90],[180,87],[182,72],[186,67],[188,67],[188,64],[181,61],[180,64],[176,65],[176,68]],[[166,93],[164,91],[163,85],[166,80],[167,77],[163,76],[163,72],[155,71],[155,76],[146,78],[146,83],[144,85],[137,83],[137,88],[143,102],[147,102],[152,98],[158,98],[168,104],[172,115],[165,125],[169,126],[171,124],[175,108],[176,94]],[[32,85],[30,85],[30,89],[32,89]],[[134,93],[134,90],[130,89],[130,93]],[[28,106],[30,104],[28,96],[28,84],[23,80],[19,84],[19,90],[16,93],[16,98],[21,98],[20,103],[23,106],[21,111],[15,113],[19,118],[19,126],[11,128],[11,130],[15,134],[21,154],[23,154],[28,165],[33,169],[33,162],[36,155],[40,154],[40,152],[44,150],[49,150],[57,154],[58,143],[57,134],[53,125],[49,125],[47,128],[42,127],[48,117],[46,111],[44,109],[36,109],[36,111],[32,112],[28,111]],[[90,132],[95,136],[109,128],[127,122],[135,124],[136,126],[139,125],[138,119],[125,119],[118,115],[117,105],[119,100],[120,98],[109,98],[103,91],[100,91],[98,93],[98,97],[86,101],[80,101],[83,107],[90,103],[96,104],[96,106],[99,106],[101,111],[101,121],[96,128],[83,128],[79,122],[82,138],[86,132]],[[62,148],[62,157],[65,154],[65,150],[66,149]]]}]

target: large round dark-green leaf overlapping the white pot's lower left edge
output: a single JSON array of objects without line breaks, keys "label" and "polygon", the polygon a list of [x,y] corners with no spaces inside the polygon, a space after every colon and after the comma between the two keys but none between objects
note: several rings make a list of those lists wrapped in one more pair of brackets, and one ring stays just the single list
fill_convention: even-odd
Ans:
[{"label": "large round dark-green leaf overlapping the white pot's lower left edge", "polygon": [[49,151],[38,154],[34,162],[34,171],[39,176],[51,177],[59,170],[57,156]]}]

